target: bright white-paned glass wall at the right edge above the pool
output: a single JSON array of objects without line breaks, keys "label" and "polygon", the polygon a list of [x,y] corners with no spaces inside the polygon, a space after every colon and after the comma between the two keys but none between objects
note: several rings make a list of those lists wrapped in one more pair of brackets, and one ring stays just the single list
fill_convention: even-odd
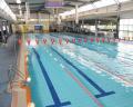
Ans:
[{"label": "bright white-paned glass wall at the right edge above the pool", "polygon": [[133,40],[133,19],[120,20],[119,37],[126,40]]}]

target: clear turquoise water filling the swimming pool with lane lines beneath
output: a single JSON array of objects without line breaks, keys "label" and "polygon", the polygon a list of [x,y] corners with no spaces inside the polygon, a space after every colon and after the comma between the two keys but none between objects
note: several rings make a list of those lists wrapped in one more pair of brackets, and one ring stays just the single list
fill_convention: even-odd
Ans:
[{"label": "clear turquoise water filling the swimming pool with lane lines beneath", "polygon": [[28,38],[31,39],[28,46],[29,86],[35,107],[100,107],[66,71],[75,76],[103,107],[133,107],[132,45],[34,43],[34,39],[83,38],[64,33],[31,33]]}]

